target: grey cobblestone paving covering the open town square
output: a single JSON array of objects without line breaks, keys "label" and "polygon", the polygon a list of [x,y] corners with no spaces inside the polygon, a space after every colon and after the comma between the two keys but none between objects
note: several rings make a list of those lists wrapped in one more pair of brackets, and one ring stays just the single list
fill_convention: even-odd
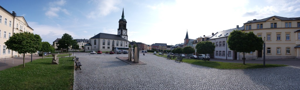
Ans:
[{"label": "grey cobblestone paving covering the open town square", "polygon": [[[140,54],[143,65],[130,65],[123,54],[76,53],[82,70],[75,70],[74,89],[139,90],[278,90],[300,89],[300,68],[295,66],[222,70]],[[184,61],[183,61],[184,62]]]}]

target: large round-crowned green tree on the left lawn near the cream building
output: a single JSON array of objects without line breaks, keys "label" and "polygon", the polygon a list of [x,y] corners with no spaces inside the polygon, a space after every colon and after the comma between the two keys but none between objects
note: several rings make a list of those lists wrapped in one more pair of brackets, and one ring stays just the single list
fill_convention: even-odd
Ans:
[{"label": "large round-crowned green tree on the left lawn near the cream building", "polygon": [[4,44],[7,49],[23,54],[23,67],[25,67],[25,53],[35,53],[41,49],[42,39],[40,35],[31,32],[13,33]]}]

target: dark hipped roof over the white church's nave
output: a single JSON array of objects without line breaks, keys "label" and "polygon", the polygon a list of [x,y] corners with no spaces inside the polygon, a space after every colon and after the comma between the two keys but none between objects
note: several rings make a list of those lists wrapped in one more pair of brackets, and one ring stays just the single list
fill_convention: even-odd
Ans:
[{"label": "dark hipped roof over the white church's nave", "polygon": [[107,33],[99,33],[99,34],[95,35],[92,38],[105,38],[105,39],[115,39],[115,40],[128,41],[125,38],[122,38],[120,35],[107,34]]}]

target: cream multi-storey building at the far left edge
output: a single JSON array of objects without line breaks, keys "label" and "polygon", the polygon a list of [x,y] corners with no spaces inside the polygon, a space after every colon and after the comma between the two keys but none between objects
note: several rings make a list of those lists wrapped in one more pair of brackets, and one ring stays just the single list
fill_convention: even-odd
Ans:
[{"label": "cream multi-storey building at the far left edge", "polygon": [[[31,32],[33,29],[28,26],[23,16],[16,16],[0,6],[0,58],[20,57],[22,54],[6,49],[6,42],[13,33]],[[25,55],[29,55],[28,53]]]}]

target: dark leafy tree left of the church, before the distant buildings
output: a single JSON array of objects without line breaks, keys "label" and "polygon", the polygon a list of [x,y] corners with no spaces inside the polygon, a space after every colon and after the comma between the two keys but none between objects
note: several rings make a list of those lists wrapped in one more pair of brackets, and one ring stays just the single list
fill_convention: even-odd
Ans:
[{"label": "dark leafy tree left of the church, before the distant buildings", "polygon": [[72,46],[73,44],[76,44],[77,42],[72,40],[72,36],[65,33],[62,37],[61,40],[59,40],[56,44],[58,44],[57,48],[59,49],[67,49],[67,52],[69,52],[69,47]]}]

